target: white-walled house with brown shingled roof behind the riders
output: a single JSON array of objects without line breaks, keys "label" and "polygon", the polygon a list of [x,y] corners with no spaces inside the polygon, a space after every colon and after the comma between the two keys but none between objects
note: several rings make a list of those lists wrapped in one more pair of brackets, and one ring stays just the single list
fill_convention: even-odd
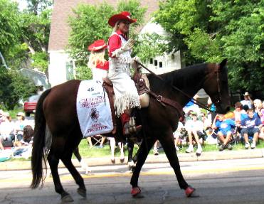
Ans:
[{"label": "white-walled house with brown shingled roof behind the riders", "polygon": [[[73,14],[72,9],[78,4],[101,4],[102,0],[54,0],[53,14],[51,16],[51,33],[48,44],[50,62],[48,66],[49,82],[51,86],[71,80],[75,75],[75,63],[70,58],[65,48],[68,45],[70,27],[68,16]],[[107,0],[107,3],[116,6],[118,1]],[[147,7],[146,21],[150,20],[151,14],[159,9],[158,0],[141,1],[142,6]],[[139,33],[156,32],[167,35],[164,29],[156,23],[149,21]],[[157,58],[149,59],[147,67],[160,74],[181,68],[180,53],[165,54]]]}]

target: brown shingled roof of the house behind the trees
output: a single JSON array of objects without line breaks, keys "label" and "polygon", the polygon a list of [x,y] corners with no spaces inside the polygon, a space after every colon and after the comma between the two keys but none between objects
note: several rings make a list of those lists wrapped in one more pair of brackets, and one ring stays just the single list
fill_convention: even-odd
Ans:
[{"label": "brown shingled roof of the house behind the trees", "polygon": [[[68,16],[73,14],[73,9],[78,4],[101,4],[104,0],[54,0],[53,14],[51,16],[51,33],[48,43],[48,51],[64,50],[68,45],[70,27],[68,25]],[[105,0],[112,6],[117,6],[118,1]],[[147,6],[145,18],[149,20],[150,14],[159,9],[159,0],[141,1],[142,6]]]}]

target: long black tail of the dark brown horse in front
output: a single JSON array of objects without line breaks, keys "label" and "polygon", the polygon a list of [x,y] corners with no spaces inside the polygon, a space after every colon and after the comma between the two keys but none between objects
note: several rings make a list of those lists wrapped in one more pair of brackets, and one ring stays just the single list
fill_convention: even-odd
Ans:
[{"label": "long black tail of the dark brown horse in front", "polygon": [[41,186],[43,186],[43,181],[46,178],[46,176],[43,175],[43,166],[42,166],[42,159],[43,159],[45,166],[44,168],[47,168],[46,167],[47,150],[45,147],[46,118],[43,112],[43,101],[45,100],[49,92],[51,92],[51,89],[43,92],[36,105],[33,149],[31,156],[31,171],[33,176],[31,181],[31,188],[38,188],[40,183]]}]

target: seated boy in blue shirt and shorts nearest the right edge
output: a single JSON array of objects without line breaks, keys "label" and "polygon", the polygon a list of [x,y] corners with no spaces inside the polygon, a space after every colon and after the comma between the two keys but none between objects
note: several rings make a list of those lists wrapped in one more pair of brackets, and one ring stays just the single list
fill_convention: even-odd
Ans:
[{"label": "seated boy in blue shirt and shorts nearest the right edge", "polygon": [[258,141],[258,135],[260,134],[262,123],[258,117],[254,117],[253,109],[248,109],[247,114],[248,117],[241,121],[241,134],[245,139],[245,149],[249,149],[250,147],[248,136],[253,136],[251,149],[255,149],[255,144]]}]

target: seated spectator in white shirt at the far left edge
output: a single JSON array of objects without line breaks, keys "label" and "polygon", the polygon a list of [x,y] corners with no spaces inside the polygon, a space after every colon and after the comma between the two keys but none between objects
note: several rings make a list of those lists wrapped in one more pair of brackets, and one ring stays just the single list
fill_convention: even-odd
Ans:
[{"label": "seated spectator in white shirt at the far left edge", "polygon": [[14,123],[11,122],[10,114],[4,112],[0,124],[0,149],[3,150],[6,146],[13,146],[14,139]]}]

